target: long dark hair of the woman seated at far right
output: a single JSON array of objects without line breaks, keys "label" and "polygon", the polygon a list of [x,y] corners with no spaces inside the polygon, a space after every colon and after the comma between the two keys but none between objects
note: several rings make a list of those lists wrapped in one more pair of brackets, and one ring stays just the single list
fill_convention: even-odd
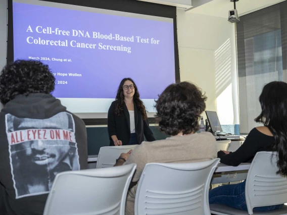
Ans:
[{"label": "long dark hair of the woman seated at far right", "polygon": [[259,101],[262,112],[255,121],[263,123],[273,134],[275,141],[271,148],[278,152],[277,174],[287,176],[287,83],[266,84]]}]

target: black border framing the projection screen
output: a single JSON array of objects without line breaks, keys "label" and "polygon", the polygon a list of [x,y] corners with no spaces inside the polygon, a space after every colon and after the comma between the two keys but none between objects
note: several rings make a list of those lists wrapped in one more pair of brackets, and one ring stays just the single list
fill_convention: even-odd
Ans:
[{"label": "black border framing the projection screen", "polygon": [[[43,1],[43,0],[39,0]],[[111,11],[120,11],[133,14],[142,14],[148,16],[164,17],[173,19],[173,31],[174,31],[174,61],[175,61],[175,81],[180,82],[179,73],[179,56],[178,56],[178,41],[177,41],[177,23],[176,23],[176,7],[159,5],[141,1],[130,0],[54,0],[43,1],[49,3],[60,3],[74,6],[83,6],[89,8],[98,8]],[[8,33],[7,33],[7,64],[14,61],[14,38],[13,38],[13,0],[8,0]],[[88,118],[84,116],[88,113],[79,113],[78,115],[86,125],[107,125],[107,113],[99,113],[101,118]],[[150,123],[156,123],[155,113],[148,113],[148,119]]]}]

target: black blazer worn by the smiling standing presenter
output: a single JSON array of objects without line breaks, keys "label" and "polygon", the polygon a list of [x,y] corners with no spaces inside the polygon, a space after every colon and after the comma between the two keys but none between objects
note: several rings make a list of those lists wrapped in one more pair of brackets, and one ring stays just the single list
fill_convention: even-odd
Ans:
[{"label": "black blazer worn by the smiling standing presenter", "polygon": [[[116,135],[123,145],[127,145],[130,140],[130,121],[127,106],[124,103],[124,113],[120,116],[115,115],[116,101],[113,101],[108,112],[108,131],[110,138],[110,146],[115,145],[111,136]],[[134,125],[137,137],[137,143],[140,144],[146,136],[147,141],[156,140],[150,129],[148,120],[143,120],[141,113],[136,109],[134,104]]]}]

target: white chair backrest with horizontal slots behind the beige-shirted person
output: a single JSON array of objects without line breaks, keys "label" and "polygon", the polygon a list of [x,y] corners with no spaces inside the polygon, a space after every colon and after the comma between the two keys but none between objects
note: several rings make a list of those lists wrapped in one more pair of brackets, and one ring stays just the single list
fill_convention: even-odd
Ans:
[{"label": "white chair backrest with horizontal slots behind the beige-shirted person", "polygon": [[210,214],[209,184],[219,158],[188,164],[147,164],[138,182],[134,214]]}]

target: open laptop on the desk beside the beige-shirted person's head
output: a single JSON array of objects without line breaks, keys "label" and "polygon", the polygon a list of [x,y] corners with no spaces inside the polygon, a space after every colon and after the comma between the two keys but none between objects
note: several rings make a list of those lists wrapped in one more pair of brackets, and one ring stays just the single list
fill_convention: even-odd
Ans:
[{"label": "open laptop on the desk beside the beige-shirted person's head", "polygon": [[215,139],[227,139],[227,140],[239,140],[240,135],[226,134],[221,128],[217,113],[215,111],[206,111],[208,123],[210,125],[211,133],[213,133]]}]

